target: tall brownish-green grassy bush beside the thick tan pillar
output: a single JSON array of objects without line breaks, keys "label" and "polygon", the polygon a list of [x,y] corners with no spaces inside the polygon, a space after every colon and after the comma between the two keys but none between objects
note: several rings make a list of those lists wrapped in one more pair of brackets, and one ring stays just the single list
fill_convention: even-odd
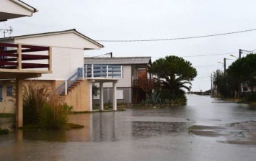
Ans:
[{"label": "tall brownish-green grassy bush beside the thick tan pillar", "polygon": [[23,123],[43,129],[66,129],[73,106],[64,103],[57,92],[50,93],[48,86],[30,82],[23,87]]}]

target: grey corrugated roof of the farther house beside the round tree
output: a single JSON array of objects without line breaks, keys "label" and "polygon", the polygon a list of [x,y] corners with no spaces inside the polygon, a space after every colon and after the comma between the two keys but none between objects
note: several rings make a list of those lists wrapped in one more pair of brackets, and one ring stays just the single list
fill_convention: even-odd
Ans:
[{"label": "grey corrugated roof of the farther house beside the round tree", "polygon": [[84,57],[84,64],[151,65],[151,57]]}]

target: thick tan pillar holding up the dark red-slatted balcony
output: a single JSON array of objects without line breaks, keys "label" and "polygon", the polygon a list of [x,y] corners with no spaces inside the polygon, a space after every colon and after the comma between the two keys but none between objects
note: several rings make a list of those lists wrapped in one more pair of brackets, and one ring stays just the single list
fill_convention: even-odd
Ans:
[{"label": "thick tan pillar holding up the dark red-slatted balcony", "polygon": [[23,126],[23,80],[16,79],[16,128]]}]

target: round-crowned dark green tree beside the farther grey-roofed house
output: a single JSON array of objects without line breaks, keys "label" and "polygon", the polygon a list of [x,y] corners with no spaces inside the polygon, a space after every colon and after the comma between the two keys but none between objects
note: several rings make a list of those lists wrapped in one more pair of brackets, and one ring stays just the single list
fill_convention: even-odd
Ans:
[{"label": "round-crowned dark green tree beside the farther grey-roofed house", "polygon": [[192,64],[175,55],[159,58],[154,61],[149,71],[157,76],[162,87],[169,90],[171,97],[177,96],[181,88],[190,91],[190,81],[196,77],[197,71]]}]

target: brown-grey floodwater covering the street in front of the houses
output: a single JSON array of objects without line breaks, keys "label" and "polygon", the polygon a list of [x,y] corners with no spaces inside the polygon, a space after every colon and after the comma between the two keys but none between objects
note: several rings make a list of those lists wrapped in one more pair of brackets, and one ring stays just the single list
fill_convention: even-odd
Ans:
[{"label": "brown-grey floodwater covering the street in front of the houses", "polygon": [[187,98],[187,106],[69,116],[84,129],[0,136],[0,160],[256,160],[251,106]]}]

